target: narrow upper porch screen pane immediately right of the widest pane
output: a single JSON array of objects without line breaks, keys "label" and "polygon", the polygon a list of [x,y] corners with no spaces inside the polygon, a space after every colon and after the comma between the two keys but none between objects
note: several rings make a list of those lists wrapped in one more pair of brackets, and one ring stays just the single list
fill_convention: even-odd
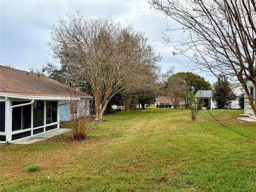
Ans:
[{"label": "narrow upper porch screen pane immediately right of the widest pane", "polygon": [[33,127],[44,125],[44,101],[35,101],[33,106]]}]

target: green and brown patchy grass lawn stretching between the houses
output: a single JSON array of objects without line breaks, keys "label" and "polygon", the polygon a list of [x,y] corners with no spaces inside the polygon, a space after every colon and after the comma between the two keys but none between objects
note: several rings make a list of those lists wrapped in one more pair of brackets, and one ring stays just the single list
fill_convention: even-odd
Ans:
[{"label": "green and brown patchy grass lawn stretching between the houses", "polygon": [[[1,145],[2,191],[256,191],[256,141],[200,111],[151,108],[105,115],[91,139],[70,133],[31,145]],[[212,110],[221,122],[256,138],[239,110]],[[63,127],[70,126],[62,124]],[[39,171],[27,167],[38,164]]]}]

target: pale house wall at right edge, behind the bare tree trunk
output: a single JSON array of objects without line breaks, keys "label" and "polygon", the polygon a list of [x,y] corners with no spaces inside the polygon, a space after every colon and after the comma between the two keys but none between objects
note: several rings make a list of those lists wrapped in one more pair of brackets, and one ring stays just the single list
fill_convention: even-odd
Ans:
[{"label": "pale house wall at right edge, behind the bare tree trunk", "polygon": [[[256,89],[253,86],[251,81],[246,81],[246,85],[247,88],[250,91],[250,94],[252,95],[252,98],[254,99],[254,105],[256,106]],[[253,114],[253,110],[252,107],[249,103],[249,99],[247,98],[247,95],[244,94],[244,114],[248,115],[248,116],[255,116],[255,114]]]}]

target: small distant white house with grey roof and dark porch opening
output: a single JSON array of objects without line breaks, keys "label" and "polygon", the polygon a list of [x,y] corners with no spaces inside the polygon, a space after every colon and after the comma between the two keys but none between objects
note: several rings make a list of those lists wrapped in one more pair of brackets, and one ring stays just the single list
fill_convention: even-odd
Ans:
[{"label": "small distant white house with grey roof and dark porch opening", "polygon": [[212,101],[212,90],[198,90],[195,98],[200,99],[204,103],[204,108],[216,108],[215,103]]}]

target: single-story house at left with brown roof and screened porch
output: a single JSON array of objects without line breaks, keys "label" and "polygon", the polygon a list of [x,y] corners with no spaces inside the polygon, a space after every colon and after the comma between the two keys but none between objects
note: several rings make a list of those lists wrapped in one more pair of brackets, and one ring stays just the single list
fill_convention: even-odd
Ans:
[{"label": "single-story house at left with brown roof and screened porch", "polygon": [[44,75],[0,66],[0,142],[59,129],[60,121],[78,114],[70,101],[85,101],[83,110],[89,115],[90,98]]}]

